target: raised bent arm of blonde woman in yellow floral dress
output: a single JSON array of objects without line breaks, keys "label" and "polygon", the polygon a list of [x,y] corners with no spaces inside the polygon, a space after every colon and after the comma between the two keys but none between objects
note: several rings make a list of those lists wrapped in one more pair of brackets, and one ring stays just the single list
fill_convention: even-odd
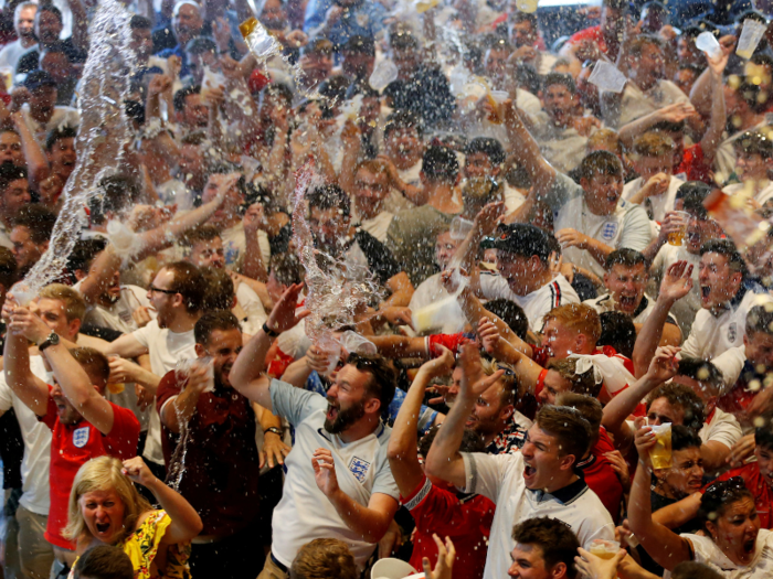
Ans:
[{"label": "raised bent arm of blonde woman in yellow floral dress", "polygon": [[167,486],[163,481],[159,481],[142,459],[135,457],[125,460],[123,472],[133,482],[141,484],[153,493],[158,504],[172,519],[161,539],[163,545],[189,542],[204,528],[195,508],[180,493]]}]

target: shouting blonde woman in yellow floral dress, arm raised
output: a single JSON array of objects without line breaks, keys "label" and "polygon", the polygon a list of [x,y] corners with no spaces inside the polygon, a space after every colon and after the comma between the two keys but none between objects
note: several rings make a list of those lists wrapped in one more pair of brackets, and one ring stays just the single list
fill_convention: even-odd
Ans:
[{"label": "shouting blonde woman in yellow floral dress, arm raised", "polygon": [[[133,482],[149,489],[161,510]],[[201,528],[188,501],[153,476],[142,459],[121,463],[99,457],[75,475],[64,535],[77,544],[78,555],[96,545],[120,547],[131,559],[135,579],[184,579],[190,577],[190,542]]]}]

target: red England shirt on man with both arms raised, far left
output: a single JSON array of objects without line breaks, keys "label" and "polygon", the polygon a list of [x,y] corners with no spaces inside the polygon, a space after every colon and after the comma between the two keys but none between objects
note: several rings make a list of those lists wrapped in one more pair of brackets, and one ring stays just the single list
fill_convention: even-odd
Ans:
[{"label": "red England shirt on man with both arms raised, far left", "polygon": [[131,410],[113,407],[113,429],[105,436],[85,419],[74,425],[63,425],[56,414],[56,404],[49,397],[49,408],[45,416],[38,419],[51,431],[51,471],[50,493],[51,508],[49,523],[45,527],[45,540],[62,547],[75,549],[75,544],[62,536],[62,529],[67,525],[67,504],[73,480],[78,469],[97,457],[108,454],[118,460],[137,455],[139,440],[139,422]]}]

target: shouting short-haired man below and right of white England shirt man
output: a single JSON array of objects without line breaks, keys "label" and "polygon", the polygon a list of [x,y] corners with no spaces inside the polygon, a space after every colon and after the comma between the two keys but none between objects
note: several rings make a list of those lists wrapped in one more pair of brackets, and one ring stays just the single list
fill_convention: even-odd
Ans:
[{"label": "shouting short-haired man below and right of white England shirt man", "polygon": [[[647,287],[647,268],[644,255],[635,249],[615,249],[606,258],[604,286],[607,293],[584,303],[600,314],[617,311],[628,315],[638,332],[655,308],[655,300],[644,292]],[[679,345],[681,332],[676,318],[668,314],[660,345]]]}]

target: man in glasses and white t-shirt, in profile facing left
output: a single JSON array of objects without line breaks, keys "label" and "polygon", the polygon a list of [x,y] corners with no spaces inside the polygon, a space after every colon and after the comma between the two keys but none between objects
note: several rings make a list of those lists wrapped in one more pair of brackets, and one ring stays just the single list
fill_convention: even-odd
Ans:
[{"label": "man in glasses and white t-shirt, in profile facing left", "polygon": [[[204,282],[199,268],[186,261],[168,264],[156,275],[148,288],[148,300],[150,307],[156,310],[156,320],[120,336],[105,349],[105,354],[114,354],[121,358],[149,355],[149,372],[128,360],[114,360],[110,363],[114,378],[125,376],[126,382],[141,385],[141,403],[152,401],[161,376],[173,369],[178,362],[195,357],[193,328],[201,318],[203,299]],[[157,412],[150,415],[148,439],[142,455],[150,461],[148,467],[153,473],[163,474],[161,425]]]}]

